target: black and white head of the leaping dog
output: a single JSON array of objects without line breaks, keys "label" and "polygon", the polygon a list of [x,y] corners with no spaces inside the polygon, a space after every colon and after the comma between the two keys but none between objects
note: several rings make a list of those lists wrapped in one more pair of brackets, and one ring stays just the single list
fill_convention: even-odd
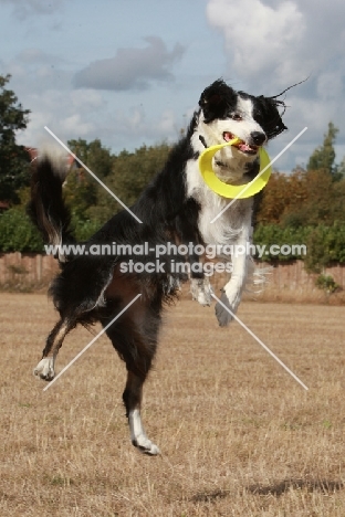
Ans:
[{"label": "black and white head of the leaping dog", "polygon": [[220,161],[236,158],[238,162],[252,162],[261,146],[286,129],[278,109],[280,104],[274,97],[236,92],[218,80],[200,96],[201,141],[209,147],[237,136],[241,143],[220,151]]}]

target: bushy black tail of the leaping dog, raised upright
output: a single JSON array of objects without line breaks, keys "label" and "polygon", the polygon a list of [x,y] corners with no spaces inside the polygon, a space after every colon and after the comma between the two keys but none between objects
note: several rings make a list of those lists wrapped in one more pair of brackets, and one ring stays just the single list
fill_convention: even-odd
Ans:
[{"label": "bushy black tail of the leaping dog, raised upright", "polygon": [[63,263],[67,256],[60,249],[61,245],[75,242],[70,228],[71,213],[62,193],[62,184],[67,175],[66,156],[59,156],[51,149],[44,150],[34,166],[28,214],[40,230],[44,242],[55,246],[53,254]]}]

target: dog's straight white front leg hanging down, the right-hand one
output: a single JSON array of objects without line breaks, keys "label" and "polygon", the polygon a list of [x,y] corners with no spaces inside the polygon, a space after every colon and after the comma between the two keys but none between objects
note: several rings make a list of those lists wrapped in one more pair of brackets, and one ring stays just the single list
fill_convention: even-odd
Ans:
[{"label": "dog's straight white front leg hanging down, the right-hand one", "polygon": [[233,319],[232,314],[237,312],[241,302],[250,260],[247,254],[248,242],[249,236],[247,232],[245,235],[241,235],[237,241],[234,253],[232,255],[231,278],[222,288],[220,300],[229,310],[219,303],[216,305],[216,316],[221,327],[227,326]]}]

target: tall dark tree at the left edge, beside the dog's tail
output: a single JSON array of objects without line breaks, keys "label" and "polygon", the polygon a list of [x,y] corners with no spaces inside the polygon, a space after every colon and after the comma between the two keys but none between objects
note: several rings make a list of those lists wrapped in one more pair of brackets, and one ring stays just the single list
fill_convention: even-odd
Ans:
[{"label": "tall dark tree at the left edge, beside the dog's tail", "polygon": [[29,183],[30,157],[15,144],[15,131],[25,129],[29,109],[23,109],[14,92],[6,89],[11,76],[0,75],[0,200],[19,202],[17,190]]}]

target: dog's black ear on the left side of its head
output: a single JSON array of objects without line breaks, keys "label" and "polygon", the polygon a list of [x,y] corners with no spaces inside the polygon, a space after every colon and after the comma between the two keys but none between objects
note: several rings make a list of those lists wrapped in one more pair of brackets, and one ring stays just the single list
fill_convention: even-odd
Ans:
[{"label": "dog's black ear on the left side of its head", "polygon": [[215,118],[226,117],[231,104],[236,103],[236,93],[222,80],[215,81],[203,89],[199,106],[202,109],[206,124]]}]

